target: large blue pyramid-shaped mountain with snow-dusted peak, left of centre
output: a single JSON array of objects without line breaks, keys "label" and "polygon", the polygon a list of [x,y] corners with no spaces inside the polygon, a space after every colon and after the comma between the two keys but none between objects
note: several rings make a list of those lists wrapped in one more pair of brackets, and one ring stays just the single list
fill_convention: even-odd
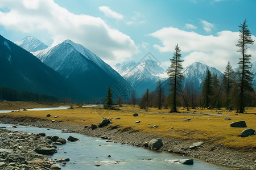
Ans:
[{"label": "large blue pyramid-shaped mountain with snow-dusted peak, left of centre", "polygon": [[59,72],[74,86],[97,100],[111,87],[114,97],[127,100],[132,87],[107,63],[90,50],[71,40],[33,53],[43,63]]}]

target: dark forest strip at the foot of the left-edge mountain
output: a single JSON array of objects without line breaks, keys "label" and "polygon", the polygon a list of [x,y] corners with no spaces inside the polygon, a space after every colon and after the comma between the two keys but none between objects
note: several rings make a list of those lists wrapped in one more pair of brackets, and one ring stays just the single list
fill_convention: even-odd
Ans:
[{"label": "dark forest strip at the foot of the left-edge mountain", "polygon": [[32,92],[19,92],[12,88],[0,87],[0,101],[58,101],[55,96],[39,95]]}]

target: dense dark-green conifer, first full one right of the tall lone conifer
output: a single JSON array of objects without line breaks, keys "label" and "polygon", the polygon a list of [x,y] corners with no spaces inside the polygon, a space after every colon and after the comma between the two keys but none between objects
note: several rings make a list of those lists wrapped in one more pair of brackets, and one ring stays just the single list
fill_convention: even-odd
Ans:
[{"label": "dense dark-green conifer, first full one right of the tall lone conifer", "polygon": [[207,108],[210,105],[210,99],[213,94],[213,82],[212,73],[207,68],[206,76],[203,83],[202,97],[203,97],[203,107]]}]

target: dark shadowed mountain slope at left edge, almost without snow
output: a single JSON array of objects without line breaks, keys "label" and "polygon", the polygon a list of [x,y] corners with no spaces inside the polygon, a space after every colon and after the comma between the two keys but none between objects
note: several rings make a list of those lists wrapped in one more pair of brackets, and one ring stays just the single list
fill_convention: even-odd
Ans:
[{"label": "dark shadowed mountain slope at left edge, almost without snow", "polygon": [[56,97],[75,97],[78,94],[63,76],[2,36],[0,54],[0,87]]}]

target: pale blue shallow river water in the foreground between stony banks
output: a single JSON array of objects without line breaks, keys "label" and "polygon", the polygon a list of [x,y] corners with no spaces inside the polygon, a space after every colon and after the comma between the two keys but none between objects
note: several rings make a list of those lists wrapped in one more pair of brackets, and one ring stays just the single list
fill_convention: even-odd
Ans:
[{"label": "pale blue shallow river water in the foreground between stony banks", "polygon": [[[171,160],[189,159],[188,157],[165,152],[150,151],[146,148],[120,143],[108,143],[105,139],[87,137],[76,133],[61,133],[61,130],[46,129],[28,126],[17,126],[0,124],[11,130],[27,131],[29,133],[45,132],[46,135],[57,135],[67,139],[69,135],[79,138],[80,141],[67,142],[65,145],[58,145],[58,152],[50,159],[69,158],[65,167],[61,169],[196,169],[213,170],[226,169],[216,165],[194,159],[193,165],[171,163]],[[111,157],[109,158],[108,155]],[[100,165],[96,167],[95,165]]]}]

